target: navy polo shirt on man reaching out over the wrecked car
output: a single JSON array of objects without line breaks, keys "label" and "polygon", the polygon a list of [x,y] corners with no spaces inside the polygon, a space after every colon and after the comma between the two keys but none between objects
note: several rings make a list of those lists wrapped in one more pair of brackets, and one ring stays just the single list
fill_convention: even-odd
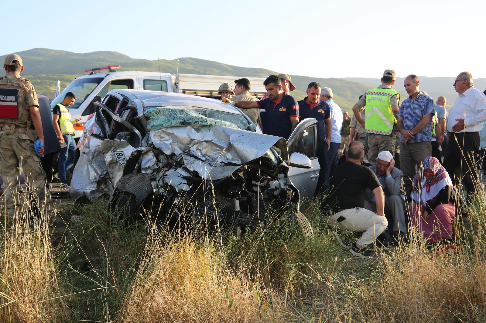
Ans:
[{"label": "navy polo shirt on man reaching out over the wrecked car", "polygon": [[294,97],[283,95],[278,102],[267,97],[257,101],[260,109],[265,109],[263,133],[288,139],[292,130],[290,118],[299,116],[299,105]]}]

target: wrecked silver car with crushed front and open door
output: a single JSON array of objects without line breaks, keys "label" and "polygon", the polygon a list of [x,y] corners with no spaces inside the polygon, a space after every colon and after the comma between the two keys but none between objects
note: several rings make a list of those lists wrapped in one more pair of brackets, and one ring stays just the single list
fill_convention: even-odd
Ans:
[{"label": "wrecked silver car with crushed front and open door", "polygon": [[315,119],[299,123],[287,146],[215,99],[113,90],[94,104],[72,198],[108,196],[118,212],[148,210],[163,222],[256,226],[269,214],[293,214],[312,232],[296,210],[317,184]]}]

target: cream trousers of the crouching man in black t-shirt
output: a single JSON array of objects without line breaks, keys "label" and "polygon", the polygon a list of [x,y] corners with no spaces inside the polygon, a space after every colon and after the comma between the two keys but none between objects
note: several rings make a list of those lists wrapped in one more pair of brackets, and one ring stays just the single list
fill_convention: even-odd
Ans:
[{"label": "cream trousers of the crouching man in black t-shirt", "polygon": [[373,213],[364,208],[342,210],[328,219],[331,226],[353,231],[364,231],[357,243],[363,247],[375,241],[376,237],[383,233],[388,226],[388,220],[384,216]]}]

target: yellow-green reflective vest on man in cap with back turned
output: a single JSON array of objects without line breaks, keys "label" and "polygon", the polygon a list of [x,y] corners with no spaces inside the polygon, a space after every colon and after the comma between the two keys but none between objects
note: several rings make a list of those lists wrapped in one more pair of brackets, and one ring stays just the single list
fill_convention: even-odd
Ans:
[{"label": "yellow-green reflective vest on man in cap with back turned", "polygon": [[393,89],[380,89],[375,87],[365,94],[366,106],[364,109],[364,132],[381,135],[390,135],[397,122],[393,115],[390,100],[394,95],[400,94]]}]

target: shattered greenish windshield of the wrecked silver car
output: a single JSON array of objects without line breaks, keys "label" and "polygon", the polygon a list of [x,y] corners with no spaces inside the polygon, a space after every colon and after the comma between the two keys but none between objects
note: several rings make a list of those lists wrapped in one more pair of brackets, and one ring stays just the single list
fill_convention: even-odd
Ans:
[{"label": "shattered greenish windshield of the wrecked silver car", "polygon": [[213,126],[224,126],[255,131],[254,126],[241,114],[192,106],[153,107],[145,110],[144,114],[150,130],[180,126],[197,126],[206,130]]}]

